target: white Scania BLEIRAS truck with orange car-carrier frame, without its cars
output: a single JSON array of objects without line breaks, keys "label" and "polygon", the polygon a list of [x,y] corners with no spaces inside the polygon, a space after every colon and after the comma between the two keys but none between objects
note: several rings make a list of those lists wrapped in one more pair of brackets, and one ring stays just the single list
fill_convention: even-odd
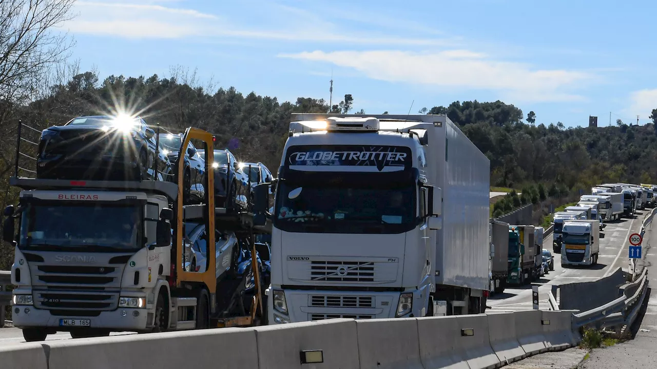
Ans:
[{"label": "white Scania BLEIRAS truck with orange car-carrier frame, without its cars", "polygon": [[[190,139],[212,150],[210,133],[188,129],[182,147]],[[177,167],[182,184],[183,165]],[[212,171],[212,156],[206,170]],[[5,208],[3,239],[14,244],[12,320],[26,341],[43,341],[55,332],[108,336],[235,321],[220,301],[233,302],[236,295],[217,290],[235,260],[233,249],[215,248],[212,176],[206,177],[209,190],[199,206],[183,206],[183,188],[162,181],[12,177],[10,183],[22,191],[18,208]],[[256,196],[259,209],[265,207],[266,192],[260,188]],[[240,230],[257,232],[250,226],[267,223],[222,210],[221,221],[237,218]],[[184,267],[189,264],[181,251],[187,220],[213,230],[199,238],[207,244],[200,272]],[[250,226],[241,228],[244,224]]]}]

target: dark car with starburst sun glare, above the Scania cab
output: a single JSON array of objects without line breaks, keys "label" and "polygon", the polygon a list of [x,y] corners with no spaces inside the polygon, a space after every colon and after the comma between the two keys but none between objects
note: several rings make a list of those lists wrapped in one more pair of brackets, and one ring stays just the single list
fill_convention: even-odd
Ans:
[{"label": "dark car with starburst sun glare, above the Scania cab", "polygon": [[[103,181],[166,180],[171,163],[158,154],[154,131],[133,116],[80,116],[44,129],[39,141],[39,179]],[[154,172],[157,162],[157,172]]]}]

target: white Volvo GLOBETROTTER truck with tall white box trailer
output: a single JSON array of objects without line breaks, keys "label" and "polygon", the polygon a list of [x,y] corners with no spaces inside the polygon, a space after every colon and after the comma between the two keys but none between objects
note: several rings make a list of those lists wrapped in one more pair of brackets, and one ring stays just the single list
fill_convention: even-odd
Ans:
[{"label": "white Volvo GLOBETROTTER truck with tall white box trailer", "polygon": [[292,114],[270,324],[483,312],[489,167],[447,116]]}]

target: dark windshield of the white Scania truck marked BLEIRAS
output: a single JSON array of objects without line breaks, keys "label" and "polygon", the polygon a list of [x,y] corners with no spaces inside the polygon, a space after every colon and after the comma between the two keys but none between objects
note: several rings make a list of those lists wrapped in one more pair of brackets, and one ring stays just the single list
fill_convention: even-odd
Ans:
[{"label": "dark windshield of the white Scania truck marked BLEIRAS", "polygon": [[[142,224],[136,205],[28,204],[20,221],[21,250],[134,251]],[[80,250],[84,249],[84,250]]]}]

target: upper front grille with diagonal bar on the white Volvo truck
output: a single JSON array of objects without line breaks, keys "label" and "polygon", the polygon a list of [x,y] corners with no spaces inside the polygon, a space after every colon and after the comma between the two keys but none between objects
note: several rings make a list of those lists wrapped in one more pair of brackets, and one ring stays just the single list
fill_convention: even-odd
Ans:
[{"label": "upper front grille with diagonal bar on the white Volvo truck", "polygon": [[374,263],[361,261],[311,261],[311,278],[332,282],[374,282]]}]

